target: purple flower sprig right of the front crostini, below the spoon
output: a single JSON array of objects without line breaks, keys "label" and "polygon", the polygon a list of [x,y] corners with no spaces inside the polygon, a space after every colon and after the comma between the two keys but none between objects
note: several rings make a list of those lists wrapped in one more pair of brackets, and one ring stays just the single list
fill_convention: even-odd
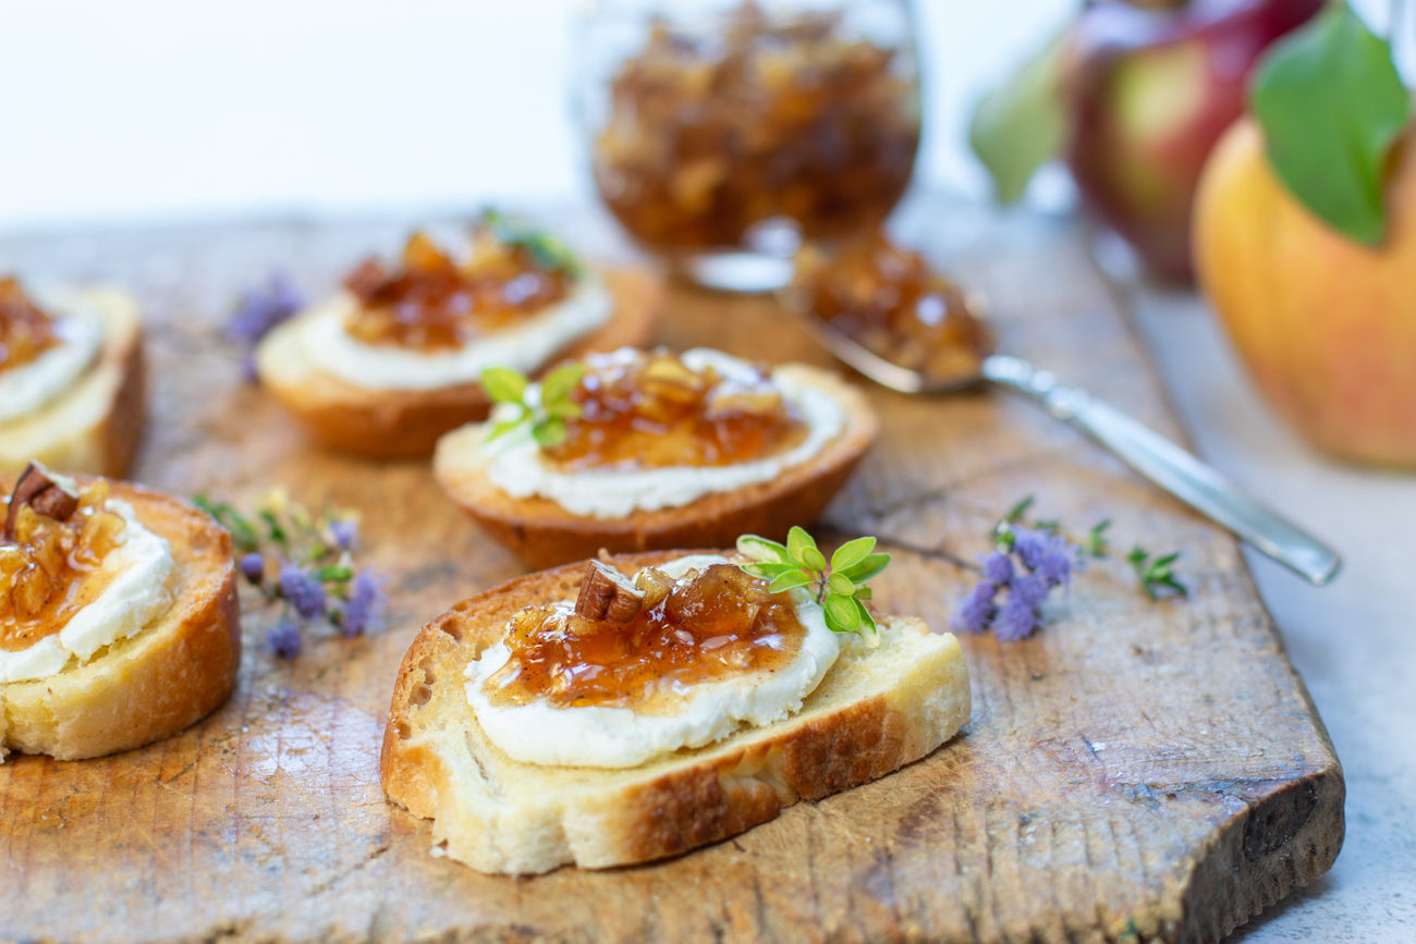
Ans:
[{"label": "purple flower sprig right of the front crostini, below the spoon", "polygon": [[[960,633],[986,633],[990,628],[1004,641],[1025,640],[1042,626],[1042,604],[1048,594],[1066,586],[1082,569],[1086,558],[1109,558],[1106,529],[1110,519],[1093,526],[1073,542],[1056,521],[1025,524],[1034,498],[1028,495],[993,528],[994,549],[980,562],[983,579],[954,610],[952,626]],[[1188,596],[1188,589],[1174,573],[1180,552],[1151,556],[1138,545],[1127,555],[1141,589],[1157,600],[1163,594]]]}]

